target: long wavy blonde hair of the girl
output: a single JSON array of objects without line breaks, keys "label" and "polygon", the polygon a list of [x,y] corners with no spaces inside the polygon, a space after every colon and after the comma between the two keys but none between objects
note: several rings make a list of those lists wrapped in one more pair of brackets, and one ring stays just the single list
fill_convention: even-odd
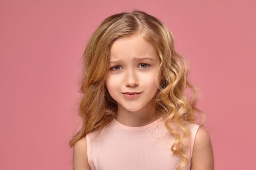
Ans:
[{"label": "long wavy blonde hair of the girl", "polygon": [[[170,150],[181,158],[182,161],[177,167],[177,170],[180,170],[189,161],[183,148],[183,142],[191,135],[186,121],[195,123],[196,113],[199,113],[203,121],[197,124],[203,126],[205,115],[196,107],[197,88],[187,79],[188,64],[175,51],[172,33],[158,18],[140,10],[107,17],[89,39],[83,53],[79,82],[81,97],[78,111],[82,126],[72,136],[69,146],[73,147],[89,132],[100,132],[116,117],[117,102],[110,96],[105,85],[110,48],[116,39],[134,34],[140,34],[152,43],[161,60],[161,78],[157,83],[158,91],[154,101],[159,113],[166,117],[165,127],[175,138]],[[185,93],[187,87],[192,91],[191,99]],[[175,123],[179,130],[172,128],[171,122]]]}]

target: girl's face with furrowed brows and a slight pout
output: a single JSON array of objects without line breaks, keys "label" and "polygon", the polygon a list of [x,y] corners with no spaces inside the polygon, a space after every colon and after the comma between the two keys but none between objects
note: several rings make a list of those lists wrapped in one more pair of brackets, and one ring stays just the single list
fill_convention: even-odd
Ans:
[{"label": "girl's face with furrowed brows and a slight pout", "polygon": [[[152,105],[158,87],[160,59],[154,46],[139,35],[114,41],[110,49],[106,86],[118,108],[135,112]],[[140,93],[127,95],[126,92]]]}]

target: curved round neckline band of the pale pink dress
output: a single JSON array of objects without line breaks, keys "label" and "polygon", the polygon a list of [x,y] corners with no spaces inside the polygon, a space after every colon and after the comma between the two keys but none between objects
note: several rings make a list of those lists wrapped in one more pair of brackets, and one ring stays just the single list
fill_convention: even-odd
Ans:
[{"label": "curved round neckline band of the pale pink dress", "polygon": [[126,126],[120,122],[118,122],[118,120],[116,118],[114,118],[114,122],[122,129],[125,129],[125,130],[130,130],[130,131],[142,131],[142,130],[146,130],[150,127],[153,127],[155,125],[157,125],[160,121],[163,120],[163,117],[161,116],[160,118],[156,119],[155,121],[149,123],[149,124],[146,124],[144,126]]}]

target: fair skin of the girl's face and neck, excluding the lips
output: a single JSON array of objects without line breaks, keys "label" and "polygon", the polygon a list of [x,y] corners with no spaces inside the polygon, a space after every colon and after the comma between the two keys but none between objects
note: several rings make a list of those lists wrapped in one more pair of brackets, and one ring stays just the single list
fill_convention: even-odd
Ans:
[{"label": "fair skin of the girl's face and neck, excluding the lips", "polygon": [[[144,57],[152,60],[134,60]],[[155,47],[139,34],[118,38],[113,43],[106,86],[118,103],[118,122],[143,126],[159,118],[154,104],[159,67],[160,58]],[[135,99],[127,99],[123,92],[142,93]]]}]

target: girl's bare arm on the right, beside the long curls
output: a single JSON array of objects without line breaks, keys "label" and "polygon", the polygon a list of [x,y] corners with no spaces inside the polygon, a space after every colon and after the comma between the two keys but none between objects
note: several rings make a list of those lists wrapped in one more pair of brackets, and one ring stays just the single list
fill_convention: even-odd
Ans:
[{"label": "girl's bare arm on the right, beside the long curls", "polygon": [[199,127],[195,137],[190,170],[214,170],[214,154],[210,136]]}]

